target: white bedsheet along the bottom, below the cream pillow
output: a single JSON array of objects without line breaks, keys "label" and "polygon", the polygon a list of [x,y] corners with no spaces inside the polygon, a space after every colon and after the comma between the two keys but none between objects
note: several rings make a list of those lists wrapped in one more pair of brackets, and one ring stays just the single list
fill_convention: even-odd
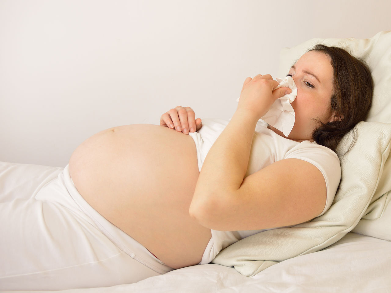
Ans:
[{"label": "white bedsheet along the bottom, below the cream pillow", "polygon": [[391,292],[390,272],[390,241],[349,233],[325,250],[280,262],[254,277],[245,277],[234,268],[219,264],[203,264],[171,271],[135,284],[61,292],[382,293]]}]

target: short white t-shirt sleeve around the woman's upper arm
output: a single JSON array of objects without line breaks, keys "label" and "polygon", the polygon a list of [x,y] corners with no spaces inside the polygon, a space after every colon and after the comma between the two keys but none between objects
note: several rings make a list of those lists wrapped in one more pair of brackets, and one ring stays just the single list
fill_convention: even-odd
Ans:
[{"label": "short white t-shirt sleeve around the woman's upper arm", "polygon": [[337,154],[327,147],[305,141],[291,149],[285,158],[304,160],[321,171],[326,182],[327,198],[325,208],[317,217],[323,215],[333,203],[341,181],[341,163]]}]

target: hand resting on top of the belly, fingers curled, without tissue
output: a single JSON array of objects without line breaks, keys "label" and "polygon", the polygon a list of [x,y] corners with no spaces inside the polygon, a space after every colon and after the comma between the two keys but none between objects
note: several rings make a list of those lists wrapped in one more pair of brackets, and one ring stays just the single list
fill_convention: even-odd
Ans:
[{"label": "hand resting on top of the belly, fingers curled, without tissue", "polygon": [[195,113],[190,107],[176,106],[160,117],[160,125],[178,132],[188,134],[201,128],[200,118],[195,119]]}]

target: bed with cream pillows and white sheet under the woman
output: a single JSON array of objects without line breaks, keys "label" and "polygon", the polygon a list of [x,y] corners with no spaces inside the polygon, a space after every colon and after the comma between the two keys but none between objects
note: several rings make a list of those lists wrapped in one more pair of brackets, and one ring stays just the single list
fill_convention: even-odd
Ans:
[{"label": "bed with cream pillows and white sheet under the woman", "polygon": [[[348,48],[369,64],[375,81],[373,107],[341,160],[341,185],[328,212],[242,239],[211,264],[134,284],[64,292],[391,292],[391,31],[363,40],[312,39],[282,49],[279,76],[318,42]],[[342,150],[350,139],[344,138]],[[5,200],[33,194],[61,171],[0,162],[0,193]]]}]

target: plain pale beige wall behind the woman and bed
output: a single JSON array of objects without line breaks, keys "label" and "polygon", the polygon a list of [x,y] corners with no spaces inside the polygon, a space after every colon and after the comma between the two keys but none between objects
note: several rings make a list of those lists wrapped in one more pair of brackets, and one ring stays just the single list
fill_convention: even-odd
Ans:
[{"label": "plain pale beige wall behind the woman and bed", "polygon": [[391,29],[391,2],[0,0],[0,161],[65,166],[93,133],[176,105],[229,119],[282,47]]}]

